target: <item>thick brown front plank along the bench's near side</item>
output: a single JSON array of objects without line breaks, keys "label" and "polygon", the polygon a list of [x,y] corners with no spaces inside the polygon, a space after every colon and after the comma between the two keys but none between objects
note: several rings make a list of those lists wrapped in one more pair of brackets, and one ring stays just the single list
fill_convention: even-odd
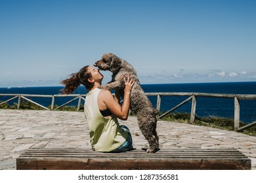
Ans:
[{"label": "thick brown front plank along the bench's near side", "polygon": [[[31,158],[17,159],[17,169],[51,169],[51,170],[234,170],[250,169],[247,161],[233,159],[90,159],[90,158]],[[121,166],[120,166],[121,165]]]}]

